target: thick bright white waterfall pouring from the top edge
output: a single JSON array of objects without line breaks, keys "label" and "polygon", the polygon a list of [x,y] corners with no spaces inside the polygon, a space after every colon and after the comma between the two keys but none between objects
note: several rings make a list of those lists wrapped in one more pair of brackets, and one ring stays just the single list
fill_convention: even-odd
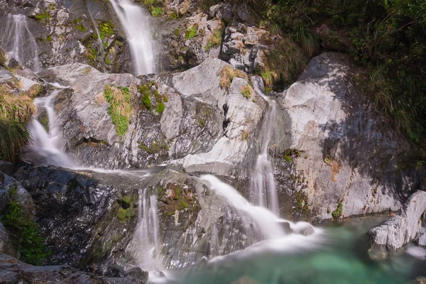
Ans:
[{"label": "thick bright white waterfall pouring from the top edge", "polygon": [[111,0],[130,46],[134,75],[155,72],[153,39],[148,14],[131,0]]}]

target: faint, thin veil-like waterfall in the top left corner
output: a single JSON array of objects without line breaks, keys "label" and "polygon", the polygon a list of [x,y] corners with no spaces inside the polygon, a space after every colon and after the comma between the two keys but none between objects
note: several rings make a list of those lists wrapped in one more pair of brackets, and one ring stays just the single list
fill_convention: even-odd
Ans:
[{"label": "faint, thin veil-like waterfall in the top left corner", "polygon": [[27,50],[31,50],[33,53],[33,70],[35,72],[40,70],[38,45],[31,31],[28,30],[28,22],[25,15],[12,15],[11,13],[7,15],[6,29],[1,38],[1,43],[6,52],[24,66],[26,65],[26,51],[22,47],[26,46]]}]

